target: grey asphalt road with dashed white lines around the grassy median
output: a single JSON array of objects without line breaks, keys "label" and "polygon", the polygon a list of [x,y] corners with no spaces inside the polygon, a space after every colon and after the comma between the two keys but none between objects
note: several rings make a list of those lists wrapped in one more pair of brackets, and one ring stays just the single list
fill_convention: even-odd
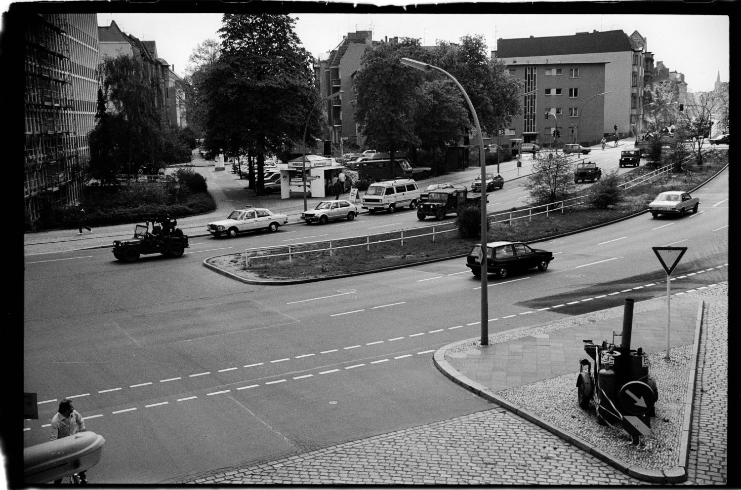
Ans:
[{"label": "grey asphalt road with dashed white lines around the grassy median", "polygon": [[[636,301],[663,295],[651,246],[688,246],[677,290],[726,281],[728,172],[694,194],[697,215],[642,215],[539,244],[556,255],[548,272],[490,282],[489,331],[617,306],[628,287],[644,286]],[[40,404],[24,445],[46,440],[58,400],[73,397],[107,440],[96,483],[161,483],[487,408],[431,360],[478,334],[479,281],[461,259],[296,286],[250,286],[200,265],[293,229],[358,232],[343,226],[200,238],[179,260],[27,257],[24,390]]]}]

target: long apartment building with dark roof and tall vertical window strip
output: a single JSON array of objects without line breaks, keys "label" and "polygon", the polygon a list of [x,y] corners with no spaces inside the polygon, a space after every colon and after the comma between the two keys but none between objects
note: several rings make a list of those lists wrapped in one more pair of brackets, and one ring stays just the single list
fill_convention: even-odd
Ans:
[{"label": "long apartment building with dark roof and tall vertical window strip", "polygon": [[525,81],[526,93],[536,91],[518,99],[523,114],[505,136],[552,143],[557,125],[559,142],[591,145],[616,126],[621,136],[640,132],[645,49],[637,31],[500,38],[492,56]]}]

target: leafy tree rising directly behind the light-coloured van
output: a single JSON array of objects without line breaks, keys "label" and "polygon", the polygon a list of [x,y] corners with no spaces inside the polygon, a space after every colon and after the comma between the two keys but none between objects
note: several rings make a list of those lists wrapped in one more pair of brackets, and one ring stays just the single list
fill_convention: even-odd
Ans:
[{"label": "leafy tree rising directly behind the light-coloured van", "polygon": [[[422,59],[419,39],[402,38],[368,48],[354,77],[355,118],[368,146],[391,153],[416,147],[414,113],[422,72],[402,65],[401,58]],[[393,164],[389,167],[393,178]]]}]

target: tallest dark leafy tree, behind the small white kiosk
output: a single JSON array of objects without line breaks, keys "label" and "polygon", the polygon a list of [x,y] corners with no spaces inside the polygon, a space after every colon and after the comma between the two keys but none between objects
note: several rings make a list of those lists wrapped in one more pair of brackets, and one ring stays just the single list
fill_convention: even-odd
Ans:
[{"label": "tallest dark leafy tree, behind the small white kiosk", "polygon": [[[204,144],[207,150],[255,155],[256,173],[262,175],[265,155],[298,143],[319,101],[312,58],[299,47],[295,19],[286,14],[227,13],[222,22],[218,61],[198,80],[194,76],[204,104]],[[312,123],[316,134],[317,113]],[[262,179],[255,184],[263,192]]]}]

